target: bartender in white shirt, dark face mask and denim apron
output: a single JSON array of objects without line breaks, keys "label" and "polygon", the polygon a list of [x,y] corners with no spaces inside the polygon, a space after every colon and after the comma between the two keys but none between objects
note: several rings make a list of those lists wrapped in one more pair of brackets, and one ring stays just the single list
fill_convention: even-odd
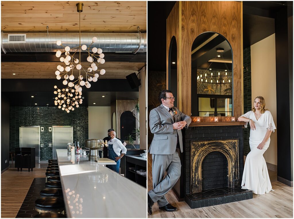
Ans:
[{"label": "bartender in white shirt, dark face mask and denim apron", "polygon": [[[116,132],[110,131],[110,140],[108,141],[108,158],[115,160],[116,165],[106,165],[109,169],[119,172],[119,165],[121,164],[121,158],[127,153],[126,147],[116,138]],[[122,152],[121,152],[122,151]]]}]

